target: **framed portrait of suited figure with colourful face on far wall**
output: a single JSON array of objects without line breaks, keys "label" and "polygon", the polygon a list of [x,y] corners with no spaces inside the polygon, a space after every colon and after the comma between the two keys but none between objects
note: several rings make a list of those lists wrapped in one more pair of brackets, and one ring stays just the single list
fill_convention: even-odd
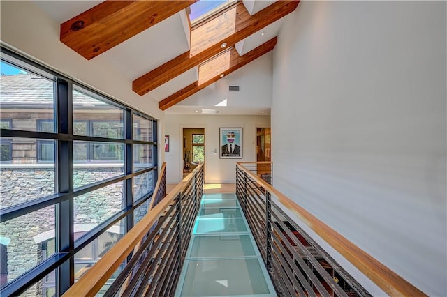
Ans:
[{"label": "framed portrait of suited figure with colourful face on far wall", "polygon": [[219,128],[220,158],[242,159],[242,128]]}]

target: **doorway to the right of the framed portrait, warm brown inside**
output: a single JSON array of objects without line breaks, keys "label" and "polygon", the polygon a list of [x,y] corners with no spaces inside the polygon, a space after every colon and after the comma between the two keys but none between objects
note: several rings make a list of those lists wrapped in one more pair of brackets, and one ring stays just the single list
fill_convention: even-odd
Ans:
[{"label": "doorway to the right of the framed portrait, warm brown inside", "polygon": [[[270,162],[272,159],[271,129],[256,128],[256,162]],[[258,164],[257,174],[264,180],[270,178],[270,164]]]}]

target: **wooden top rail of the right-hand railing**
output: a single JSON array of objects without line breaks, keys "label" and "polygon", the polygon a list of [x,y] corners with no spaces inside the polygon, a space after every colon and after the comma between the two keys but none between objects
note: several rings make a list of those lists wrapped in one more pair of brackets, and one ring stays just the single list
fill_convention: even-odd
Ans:
[{"label": "wooden top rail of the right-hand railing", "polygon": [[357,245],[354,245],[337,231],[330,228],[327,224],[318,220],[318,218],[314,217],[314,215],[298,204],[295,204],[294,201],[286,197],[286,195],[283,195],[279,190],[272,188],[272,186],[263,181],[263,179],[252,174],[248,169],[243,167],[243,164],[245,163],[250,162],[236,162],[236,165],[253,178],[256,183],[260,184],[272,197],[276,198],[281,204],[288,208],[288,210],[293,211],[293,213],[298,215],[298,218],[300,218],[302,222],[307,224],[307,226],[314,230],[318,236],[329,243],[332,248],[335,248],[337,252],[348,259],[351,264],[356,266],[358,270],[362,271],[362,273],[369,277],[369,279],[377,284],[377,286],[381,287],[387,294],[390,296],[427,296],[418,288],[397,275],[397,273],[391,271],[390,268],[381,264],[381,262],[367,254],[367,252],[361,250]]}]

